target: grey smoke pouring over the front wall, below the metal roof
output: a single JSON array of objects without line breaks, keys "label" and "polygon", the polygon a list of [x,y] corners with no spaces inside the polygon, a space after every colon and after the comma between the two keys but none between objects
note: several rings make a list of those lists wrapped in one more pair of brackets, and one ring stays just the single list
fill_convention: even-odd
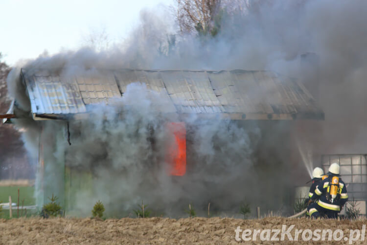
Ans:
[{"label": "grey smoke pouring over the front wall, below the metal roof", "polygon": [[[187,162],[192,166],[186,176],[169,176],[165,156],[174,139],[167,134],[165,123],[177,119],[157,114],[155,108],[166,102],[144,84],[133,83],[120,105],[108,110],[92,108],[93,120],[70,124],[72,146],[67,146],[65,139],[57,145],[68,147],[70,167],[92,171],[97,179],[93,196],[78,203],[81,209],[91,199],[100,198],[126,212],[144,200],[165,212],[173,206],[171,212],[180,213],[179,201],[207,205],[201,202],[215,198],[216,205],[224,207],[227,202],[219,197],[238,195],[229,193],[226,180],[231,176],[238,182],[252,167],[248,133],[229,121],[202,121],[192,115],[185,121],[190,145]],[[218,183],[221,185],[216,186]],[[242,186],[232,189],[240,191]]]}]

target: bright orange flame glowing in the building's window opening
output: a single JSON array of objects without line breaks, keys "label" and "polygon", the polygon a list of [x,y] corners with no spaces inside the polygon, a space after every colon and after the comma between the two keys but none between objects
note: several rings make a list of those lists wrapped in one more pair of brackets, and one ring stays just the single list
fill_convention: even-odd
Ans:
[{"label": "bright orange flame glowing in the building's window opening", "polygon": [[[169,175],[183,176],[186,173],[186,128],[185,123],[167,123],[167,131],[175,141],[168,146],[166,161],[170,165]],[[171,142],[172,143],[172,142]]]}]

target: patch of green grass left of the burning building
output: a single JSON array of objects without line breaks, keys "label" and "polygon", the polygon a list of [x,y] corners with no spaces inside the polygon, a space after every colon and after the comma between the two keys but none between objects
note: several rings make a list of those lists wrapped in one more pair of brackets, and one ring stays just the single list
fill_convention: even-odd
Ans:
[{"label": "patch of green grass left of the burning building", "polygon": [[22,207],[23,198],[24,198],[24,206],[36,204],[36,200],[34,198],[34,186],[0,186],[0,201],[9,202],[9,196],[11,196],[11,201],[17,203],[18,188],[19,188],[19,208]]}]

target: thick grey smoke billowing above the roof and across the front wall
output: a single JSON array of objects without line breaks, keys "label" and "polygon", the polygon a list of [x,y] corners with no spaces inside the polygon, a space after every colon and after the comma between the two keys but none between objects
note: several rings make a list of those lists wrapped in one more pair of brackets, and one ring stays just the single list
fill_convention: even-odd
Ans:
[{"label": "thick grey smoke billowing above the roof and across the front wall", "polygon": [[[85,48],[40,56],[23,68],[29,74],[61,76],[120,68],[273,70],[301,78],[305,74],[301,73],[300,55],[315,52],[319,68],[307,74],[305,86],[318,91],[314,96],[325,121],[306,123],[292,132],[287,122],[203,121],[192,115],[185,122],[192,174],[173,179],[162,167],[167,141],[163,125],[176,119],[154,112],[154,106],[165,103],[159,94],[148,91],[144,84],[131,84],[117,105],[96,105],[90,108],[90,120],[70,122],[71,146],[65,137],[51,136],[65,123],[39,123],[44,126],[46,143],[54,146],[45,161],[65,160],[69,167],[93,172],[101,180],[94,179],[92,193],[77,194],[76,206],[82,209],[101,199],[128,212],[143,199],[174,213],[177,203],[207,205],[211,201],[218,209],[236,210],[240,201],[248,199],[252,205],[263,203],[266,209],[275,210],[292,190],[286,187],[302,185],[308,178],[300,162],[289,163],[297,147],[284,143],[285,138],[298,136],[298,141],[308,141],[317,154],[366,153],[367,2],[250,2],[248,9],[233,11],[223,20],[215,38],[179,34],[173,38],[175,25],[168,11],[142,11],[141,25],[110,50]],[[19,107],[27,110],[18,75],[19,70],[9,74],[9,91]],[[37,146],[38,138],[31,138]],[[52,181],[52,174],[49,176]]]}]

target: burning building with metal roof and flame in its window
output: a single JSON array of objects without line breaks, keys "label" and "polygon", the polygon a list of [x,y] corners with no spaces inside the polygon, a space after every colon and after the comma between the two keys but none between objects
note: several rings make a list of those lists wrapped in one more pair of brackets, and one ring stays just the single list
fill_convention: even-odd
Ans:
[{"label": "burning building with metal roof and flame in its window", "polygon": [[55,194],[74,215],[98,199],[284,209],[293,128],[324,118],[299,80],[270,71],[22,69],[18,83],[11,117],[32,131],[38,205]]}]

